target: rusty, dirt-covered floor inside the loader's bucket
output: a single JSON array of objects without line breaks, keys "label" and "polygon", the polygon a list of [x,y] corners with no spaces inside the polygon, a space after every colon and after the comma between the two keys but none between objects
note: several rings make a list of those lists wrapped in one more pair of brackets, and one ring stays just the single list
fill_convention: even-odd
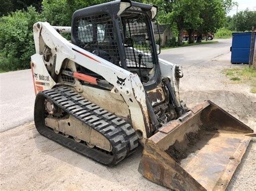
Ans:
[{"label": "rusty, dirt-covered floor inside the loader's bucket", "polygon": [[227,184],[220,178],[231,178],[238,165],[234,161],[240,160],[250,139],[238,128],[201,125],[165,152],[204,188],[212,190],[217,184]]}]

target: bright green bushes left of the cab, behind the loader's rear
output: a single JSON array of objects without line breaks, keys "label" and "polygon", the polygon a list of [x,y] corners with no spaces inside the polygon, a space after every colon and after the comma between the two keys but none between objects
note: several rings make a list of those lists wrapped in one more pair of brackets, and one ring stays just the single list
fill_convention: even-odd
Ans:
[{"label": "bright green bushes left of the cab, behind the loader's rear", "polygon": [[[77,9],[110,0],[43,0],[42,12],[30,6],[0,18],[0,71],[30,68],[30,56],[35,53],[33,24],[47,21],[51,25],[70,26]],[[63,34],[70,39],[70,34]]]}]

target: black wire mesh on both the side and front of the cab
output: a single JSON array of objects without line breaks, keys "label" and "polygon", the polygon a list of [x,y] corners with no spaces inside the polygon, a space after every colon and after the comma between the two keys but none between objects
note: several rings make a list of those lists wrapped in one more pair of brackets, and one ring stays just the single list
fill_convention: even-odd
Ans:
[{"label": "black wire mesh on both the side and front of the cab", "polygon": [[[130,15],[133,14],[132,17]],[[128,15],[128,16],[127,16]],[[151,41],[146,17],[128,13],[119,22],[128,68],[153,68]],[[77,45],[101,58],[122,66],[111,17],[102,13],[78,18],[75,22]],[[121,43],[121,42],[120,42]],[[140,66],[139,66],[140,63]]]}]

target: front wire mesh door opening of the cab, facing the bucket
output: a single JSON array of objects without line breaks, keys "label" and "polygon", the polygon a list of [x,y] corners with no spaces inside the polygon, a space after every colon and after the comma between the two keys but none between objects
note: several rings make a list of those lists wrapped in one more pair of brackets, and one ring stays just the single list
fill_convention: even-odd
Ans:
[{"label": "front wire mesh door opening of the cab, facing the bucket", "polygon": [[139,68],[139,54],[142,55],[141,68],[152,68],[152,49],[146,18],[138,14],[136,18],[127,18],[125,23],[125,53],[127,67]]}]

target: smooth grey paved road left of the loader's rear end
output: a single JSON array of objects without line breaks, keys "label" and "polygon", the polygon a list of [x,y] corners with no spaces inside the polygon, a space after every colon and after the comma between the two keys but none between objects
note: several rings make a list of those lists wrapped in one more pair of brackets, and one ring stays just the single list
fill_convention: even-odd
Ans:
[{"label": "smooth grey paved road left of the loader's rear end", "polygon": [[0,132],[32,121],[34,100],[30,69],[0,74]]}]

